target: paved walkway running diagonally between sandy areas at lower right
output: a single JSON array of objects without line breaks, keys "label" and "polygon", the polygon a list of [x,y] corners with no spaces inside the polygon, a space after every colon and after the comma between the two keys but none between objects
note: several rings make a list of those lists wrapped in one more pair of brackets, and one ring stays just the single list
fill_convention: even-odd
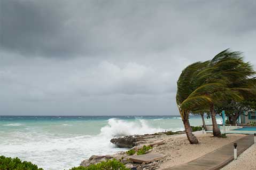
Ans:
[{"label": "paved walkway running diagonally between sandy areas at lower right", "polygon": [[[253,135],[247,135],[237,141],[237,156],[249,148],[253,142]],[[192,160],[189,163],[166,168],[164,170],[216,170],[224,167],[234,160],[234,143],[224,145],[220,149],[207,153],[206,155]]]}]

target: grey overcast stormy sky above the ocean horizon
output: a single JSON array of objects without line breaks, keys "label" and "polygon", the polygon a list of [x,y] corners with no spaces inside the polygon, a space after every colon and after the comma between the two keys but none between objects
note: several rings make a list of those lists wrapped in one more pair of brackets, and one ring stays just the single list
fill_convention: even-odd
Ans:
[{"label": "grey overcast stormy sky above the ocean horizon", "polygon": [[256,1],[0,0],[0,115],[178,115],[182,69],[256,65]]}]

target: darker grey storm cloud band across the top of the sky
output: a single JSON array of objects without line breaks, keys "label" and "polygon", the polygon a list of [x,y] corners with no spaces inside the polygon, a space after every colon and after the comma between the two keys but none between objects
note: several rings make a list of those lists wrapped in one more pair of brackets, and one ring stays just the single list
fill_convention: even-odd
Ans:
[{"label": "darker grey storm cloud band across the top of the sky", "polygon": [[1,46],[29,56],[144,55],[207,34],[254,31],[255,8],[255,1],[2,0]]}]

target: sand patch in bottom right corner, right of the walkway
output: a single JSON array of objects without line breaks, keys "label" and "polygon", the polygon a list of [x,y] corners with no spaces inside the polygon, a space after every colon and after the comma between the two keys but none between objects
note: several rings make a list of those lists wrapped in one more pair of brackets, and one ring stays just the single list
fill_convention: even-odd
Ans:
[{"label": "sand patch in bottom right corner, right of the walkway", "polygon": [[256,164],[256,144],[245,150],[237,160],[231,161],[230,164],[223,167],[221,170],[255,170]]}]

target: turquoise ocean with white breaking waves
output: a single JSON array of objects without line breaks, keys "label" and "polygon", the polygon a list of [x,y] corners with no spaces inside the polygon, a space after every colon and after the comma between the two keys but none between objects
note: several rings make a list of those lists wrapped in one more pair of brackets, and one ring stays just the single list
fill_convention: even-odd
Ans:
[{"label": "turquoise ocean with white breaking waves", "polygon": [[[218,117],[221,123],[221,117]],[[211,119],[206,119],[211,124]],[[201,125],[200,116],[190,124]],[[127,149],[115,148],[110,139],[184,130],[180,116],[0,116],[0,155],[19,157],[45,170],[79,166],[91,155]]]}]

